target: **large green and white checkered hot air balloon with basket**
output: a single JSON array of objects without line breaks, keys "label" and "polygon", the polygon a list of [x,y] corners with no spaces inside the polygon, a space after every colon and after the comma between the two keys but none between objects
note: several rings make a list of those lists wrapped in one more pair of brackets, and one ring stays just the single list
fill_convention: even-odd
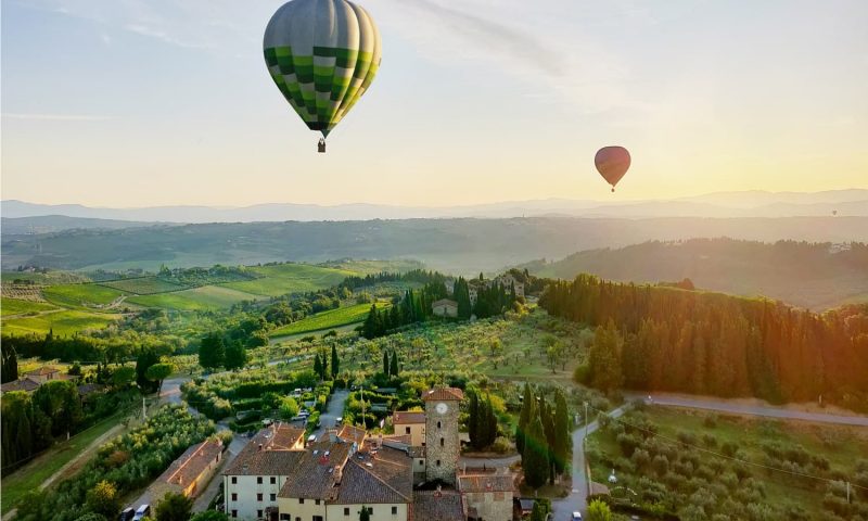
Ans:
[{"label": "large green and white checkered hot air balloon with basket", "polygon": [[[322,137],[370,87],[380,67],[380,31],[348,0],[292,0],[265,29],[271,79],[293,110]],[[320,152],[326,141],[320,139]]]}]

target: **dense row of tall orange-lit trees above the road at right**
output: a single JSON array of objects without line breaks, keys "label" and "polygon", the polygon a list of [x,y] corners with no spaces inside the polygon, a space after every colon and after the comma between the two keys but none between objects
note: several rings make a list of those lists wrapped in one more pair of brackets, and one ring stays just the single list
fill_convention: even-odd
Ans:
[{"label": "dense row of tall orange-lit trees above the road at right", "polygon": [[824,314],[764,298],[615,283],[552,281],[549,314],[598,327],[577,377],[609,391],[756,396],[868,408],[868,305]]}]

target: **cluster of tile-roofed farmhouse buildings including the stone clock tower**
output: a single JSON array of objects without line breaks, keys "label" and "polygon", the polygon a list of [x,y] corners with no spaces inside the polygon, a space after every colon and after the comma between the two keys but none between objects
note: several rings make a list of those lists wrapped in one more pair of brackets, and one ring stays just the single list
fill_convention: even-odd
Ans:
[{"label": "cluster of tile-roofed farmhouse buildings including the stone clock tower", "polygon": [[[465,520],[469,506],[476,514],[511,512],[512,474],[457,475],[461,390],[438,387],[422,399],[424,412],[393,417],[409,435],[369,437],[342,425],[302,448],[275,443],[294,433],[260,431],[224,472],[225,511],[230,519],[268,521],[355,521],[362,508],[372,521]],[[472,505],[461,486],[475,494]]]}]

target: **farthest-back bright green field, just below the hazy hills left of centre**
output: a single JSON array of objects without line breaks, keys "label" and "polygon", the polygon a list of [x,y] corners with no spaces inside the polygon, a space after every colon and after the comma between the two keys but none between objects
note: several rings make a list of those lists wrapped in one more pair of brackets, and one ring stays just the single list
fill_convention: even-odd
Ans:
[{"label": "farthest-back bright green field, just below the hazy hills left of centre", "polygon": [[256,266],[250,269],[261,278],[222,285],[257,295],[280,296],[286,293],[304,293],[331,288],[341,283],[346,277],[356,275],[355,271],[307,264]]}]

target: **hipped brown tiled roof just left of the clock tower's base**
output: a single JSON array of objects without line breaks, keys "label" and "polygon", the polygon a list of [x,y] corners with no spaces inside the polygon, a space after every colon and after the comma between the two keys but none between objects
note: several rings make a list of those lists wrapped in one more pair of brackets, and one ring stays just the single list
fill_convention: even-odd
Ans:
[{"label": "hipped brown tiled roof just left of the clock tower's base", "polygon": [[344,467],[335,503],[410,503],[412,501],[412,460],[404,450],[373,448],[353,455]]}]

